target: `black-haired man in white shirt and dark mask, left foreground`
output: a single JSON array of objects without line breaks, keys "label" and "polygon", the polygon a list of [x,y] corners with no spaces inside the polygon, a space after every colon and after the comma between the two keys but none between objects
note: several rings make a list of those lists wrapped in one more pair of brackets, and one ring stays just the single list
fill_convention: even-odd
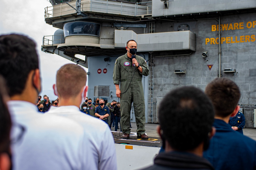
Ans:
[{"label": "black-haired man in white shirt and dark mask, left foreground", "polygon": [[8,87],[12,118],[12,169],[82,169],[83,128],[73,120],[37,111],[41,80],[35,47],[26,36],[0,36],[0,74]]}]

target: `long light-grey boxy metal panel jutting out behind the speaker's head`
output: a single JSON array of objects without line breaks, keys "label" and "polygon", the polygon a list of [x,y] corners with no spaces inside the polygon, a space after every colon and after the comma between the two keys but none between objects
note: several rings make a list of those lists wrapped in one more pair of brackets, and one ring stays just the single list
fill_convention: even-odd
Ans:
[{"label": "long light-grey boxy metal panel jutting out behind the speaker's head", "polygon": [[137,41],[138,52],[165,50],[196,51],[196,35],[191,31],[136,34],[131,30],[115,30],[115,47],[125,47],[130,39]]}]

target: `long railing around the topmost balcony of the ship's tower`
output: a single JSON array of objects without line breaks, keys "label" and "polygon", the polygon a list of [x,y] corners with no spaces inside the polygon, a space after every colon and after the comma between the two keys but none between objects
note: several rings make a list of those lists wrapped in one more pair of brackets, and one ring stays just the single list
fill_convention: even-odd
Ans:
[{"label": "long railing around the topmost balcony of the ship's tower", "polygon": [[[75,14],[76,10],[74,8],[76,9],[75,1],[46,7],[45,18]],[[130,4],[108,0],[91,0],[87,2],[81,2],[81,11],[120,14],[129,16],[151,15],[152,1]]]}]

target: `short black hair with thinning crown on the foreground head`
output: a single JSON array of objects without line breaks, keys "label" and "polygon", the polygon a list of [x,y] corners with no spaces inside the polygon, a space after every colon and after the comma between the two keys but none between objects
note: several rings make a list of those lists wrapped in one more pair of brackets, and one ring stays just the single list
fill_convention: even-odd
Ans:
[{"label": "short black hair with thinning crown on the foreground head", "polygon": [[173,149],[192,150],[208,138],[214,122],[214,107],[200,89],[177,88],[161,102],[159,121],[163,137]]}]

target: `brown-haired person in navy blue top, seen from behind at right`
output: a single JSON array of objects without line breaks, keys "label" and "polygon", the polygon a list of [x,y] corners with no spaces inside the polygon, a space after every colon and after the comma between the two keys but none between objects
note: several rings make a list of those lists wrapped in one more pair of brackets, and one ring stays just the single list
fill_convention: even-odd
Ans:
[{"label": "brown-haired person in navy blue top, seen from behind at right", "polygon": [[252,170],[256,168],[256,141],[230,128],[228,121],[239,106],[239,87],[228,78],[216,78],[205,88],[215,110],[216,134],[210,140],[204,157],[216,170]]}]

